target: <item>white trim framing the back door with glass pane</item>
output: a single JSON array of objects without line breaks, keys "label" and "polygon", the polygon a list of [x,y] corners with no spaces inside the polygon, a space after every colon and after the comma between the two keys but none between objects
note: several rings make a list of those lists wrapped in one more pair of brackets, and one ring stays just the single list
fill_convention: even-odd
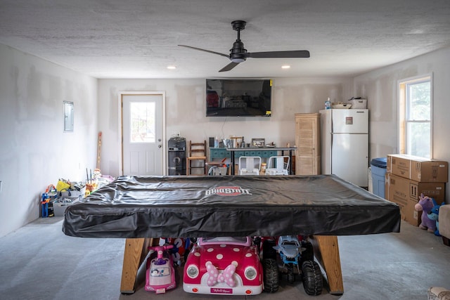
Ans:
[{"label": "white trim framing the back door with glass pane", "polygon": [[165,91],[119,91],[117,98],[117,118],[118,118],[118,138],[119,138],[119,172],[120,176],[124,173],[124,154],[123,154],[123,108],[122,108],[122,97],[124,95],[160,95],[162,98],[162,175],[167,174],[167,145],[166,145],[166,93]]}]

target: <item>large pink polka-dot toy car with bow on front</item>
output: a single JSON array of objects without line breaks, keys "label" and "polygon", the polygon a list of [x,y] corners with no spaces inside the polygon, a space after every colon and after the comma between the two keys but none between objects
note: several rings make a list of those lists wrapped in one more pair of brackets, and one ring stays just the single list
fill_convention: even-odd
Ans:
[{"label": "large pink polka-dot toy car with bow on front", "polygon": [[261,294],[263,276],[250,237],[199,238],[184,265],[183,289],[194,294]]}]

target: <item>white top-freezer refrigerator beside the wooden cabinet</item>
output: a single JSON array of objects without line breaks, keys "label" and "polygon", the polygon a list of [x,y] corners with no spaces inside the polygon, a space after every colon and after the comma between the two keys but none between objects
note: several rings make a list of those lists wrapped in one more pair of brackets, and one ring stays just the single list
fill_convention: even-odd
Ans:
[{"label": "white top-freezer refrigerator beside the wooden cabinet", "polygon": [[368,186],[368,110],[321,110],[322,174]]}]

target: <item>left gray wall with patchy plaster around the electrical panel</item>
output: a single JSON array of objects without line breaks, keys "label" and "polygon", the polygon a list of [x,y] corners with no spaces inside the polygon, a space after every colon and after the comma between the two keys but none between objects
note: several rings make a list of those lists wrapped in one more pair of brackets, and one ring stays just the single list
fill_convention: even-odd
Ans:
[{"label": "left gray wall with patchy plaster around the electrical panel", "polygon": [[[97,79],[0,44],[0,236],[39,217],[39,195],[58,178],[95,168]],[[75,131],[63,133],[63,101]]]}]

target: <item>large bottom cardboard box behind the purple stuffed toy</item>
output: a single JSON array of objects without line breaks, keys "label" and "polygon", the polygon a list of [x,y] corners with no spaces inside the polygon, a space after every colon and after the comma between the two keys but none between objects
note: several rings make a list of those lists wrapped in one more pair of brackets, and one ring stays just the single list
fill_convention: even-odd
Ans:
[{"label": "large bottom cardboard box behind the purple stuffed toy", "polygon": [[445,183],[422,183],[412,181],[394,174],[385,174],[385,197],[399,204],[401,219],[418,226],[421,213],[414,206],[418,203],[420,194],[432,197],[436,202],[445,200]]}]

